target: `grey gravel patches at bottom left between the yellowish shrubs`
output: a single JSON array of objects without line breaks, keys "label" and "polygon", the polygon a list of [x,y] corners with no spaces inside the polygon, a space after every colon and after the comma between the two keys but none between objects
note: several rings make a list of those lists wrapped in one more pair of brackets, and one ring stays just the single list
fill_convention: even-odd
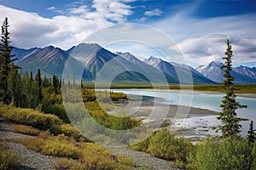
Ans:
[{"label": "grey gravel patches at bottom left between the yellowish shrubs", "polygon": [[[0,120],[0,139],[12,139],[12,138],[27,138],[32,137],[25,134],[14,133],[12,132],[13,123],[5,122]],[[16,144],[13,142],[3,142],[6,144],[9,149],[14,150],[17,156],[23,158],[21,164],[22,167],[19,169],[38,169],[38,170],[50,170],[55,169],[54,163],[58,160],[58,157],[55,156],[44,156],[43,154],[29,150],[23,144]]]}]

